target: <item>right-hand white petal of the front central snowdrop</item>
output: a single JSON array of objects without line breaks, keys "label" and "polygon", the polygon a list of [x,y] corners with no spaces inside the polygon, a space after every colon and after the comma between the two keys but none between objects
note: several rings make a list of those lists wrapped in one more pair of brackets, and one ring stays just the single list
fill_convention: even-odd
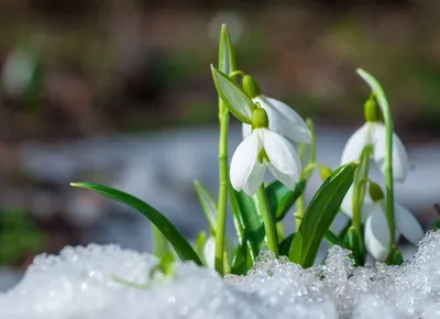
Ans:
[{"label": "right-hand white petal of the front central snowdrop", "polygon": [[298,182],[301,163],[294,146],[282,135],[271,130],[263,131],[264,150],[271,161],[270,169],[276,178],[289,188]]}]

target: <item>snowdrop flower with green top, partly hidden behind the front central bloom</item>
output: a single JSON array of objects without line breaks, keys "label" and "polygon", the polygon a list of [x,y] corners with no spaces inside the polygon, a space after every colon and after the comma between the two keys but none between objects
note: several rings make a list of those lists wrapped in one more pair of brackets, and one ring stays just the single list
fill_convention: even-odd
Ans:
[{"label": "snowdrop flower with green top, partly hidden behind the front central bloom", "polygon": [[[267,112],[268,129],[271,131],[299,143],[311,142],[309,128],[294,109],[282,101],[264,96],[260,86],[250,75],[243,77],[242,86],[244,91],[252,98],[252,101],[260,103]],[[248,138],[252,133],[252,128],[249,124],[243,123],[242,130],[243,138]]]}]

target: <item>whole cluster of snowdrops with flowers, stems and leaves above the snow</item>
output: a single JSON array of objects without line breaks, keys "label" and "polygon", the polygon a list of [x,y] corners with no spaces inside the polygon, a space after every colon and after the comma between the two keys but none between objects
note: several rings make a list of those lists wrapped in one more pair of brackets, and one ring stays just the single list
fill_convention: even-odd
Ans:
[{"label": "whole cluster of snowdrops with flowers, stems and leaves above the snow", "polygon": [[[286,103],[268,97],[255,78],[237,68],[233,47],[223,25],[219,62],[211,66],[219,95],[219,195],[218,199],[198,182],[196,190],[210,224],[190,244],[166,217],[123,191],[91,183],[73,186],[98,191],[139,210],[153,224],[157,270],[173,273],[176,256],[215,268],[220,275],[245,274],[263,248],[285,255],[302,267],[312,266],[322,240],[352,252],[358,265],[370,253],[378,261],[400,264],[400,235],[417,244],[424,231],[417,219],[394,200],[394,183],[405,180],[408,156],[393,131],[393,120],[378,81],[359,69],[371,94],[360,101],[363,124],[348,140],[341,167],[332,170],[316,162],[316,139],[311,120],[305,121]],[[230,116],[243,125],[243,141],[228,154]],[[299,143],[298,151],[293,142]],[[374,160],[374,161],[372,161]],[[384,180],[369,176],[375,164]],[[266,173],[275,182],[265,184]],[[322,185],[306,207],[304,193],[314,170]],[[380,186],[384,185],[384,187]],[[228,211],[231,207],[231,212]],[[295,209],[294,209],[295,208]],[[295,229],[285,229],[284,218],[294,211]],[[350,221],[339,232],[331,231],[338,213]],[[237,239],[226,238],[226,220],[233,218]]]}]

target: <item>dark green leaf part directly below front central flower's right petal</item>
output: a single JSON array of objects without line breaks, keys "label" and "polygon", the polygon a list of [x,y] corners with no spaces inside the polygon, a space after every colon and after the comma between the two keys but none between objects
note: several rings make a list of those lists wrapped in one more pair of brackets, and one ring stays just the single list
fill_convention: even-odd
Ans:
[{"label": "dark green leaf part directly below front central flower's right petal", "polygon": [[299,180],[294,190],[288,189],[279,180],[266,187],[267,200],[275,221],[282,221],[295,201],[306,189],[307,180]]}]

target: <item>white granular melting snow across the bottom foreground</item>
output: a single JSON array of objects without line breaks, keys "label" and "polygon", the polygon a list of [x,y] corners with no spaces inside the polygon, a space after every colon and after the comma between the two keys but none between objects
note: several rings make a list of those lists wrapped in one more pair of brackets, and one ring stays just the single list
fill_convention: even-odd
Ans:
[{"label": "white granular melting snow across the bottom foreground", "polygon": [[324,265],[308,270],[263,251],[246,276],[177,263],[172,279],[156,275],[146,253],[117,245],[65,248],[40,255],[22,282],[0,294],[0,318],[440,318],[440,231],[429,232],[402,266],[355,267],[334,246]]}]

